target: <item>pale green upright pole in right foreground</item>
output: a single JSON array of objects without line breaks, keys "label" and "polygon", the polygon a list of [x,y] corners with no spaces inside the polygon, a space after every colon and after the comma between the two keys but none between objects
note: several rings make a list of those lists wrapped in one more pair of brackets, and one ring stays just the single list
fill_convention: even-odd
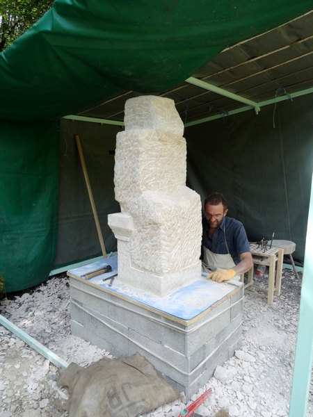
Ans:
[{"label": "pale green upright pole in right foreground", "polygon": [[298,336],[294,357],[289,417],[305,417],[313,359],[313,181],[300,297]]}]

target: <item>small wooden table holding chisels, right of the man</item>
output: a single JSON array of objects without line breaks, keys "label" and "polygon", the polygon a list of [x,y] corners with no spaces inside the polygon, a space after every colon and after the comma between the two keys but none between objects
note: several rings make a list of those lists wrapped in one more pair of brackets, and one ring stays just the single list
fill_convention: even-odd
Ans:
[{"label": "small wooden table holding chisels, right of the man", "polygon": [[[267,304],[273,304],[274,292],[276,296],[280,295],[280,286],[282,281],[282,261],[284,259],[284,250],[279,247],[271,247],[264,251],[262,247],[250,243],[250,250],[252,254],[253,263],[259,265],[266,265],[269,267],[268,271],[268,290],[254,285],[254,268],[248,271],[248,281],[245,288],[255,288],[259,291],[264,291],[267,295],[259,294],[256,291],[246,291],[248,294],[258,295],[259,297],[267,298]],[[277,265],[276,265],[277,262]],[[276,273],[275,273],[276,272]]]}]

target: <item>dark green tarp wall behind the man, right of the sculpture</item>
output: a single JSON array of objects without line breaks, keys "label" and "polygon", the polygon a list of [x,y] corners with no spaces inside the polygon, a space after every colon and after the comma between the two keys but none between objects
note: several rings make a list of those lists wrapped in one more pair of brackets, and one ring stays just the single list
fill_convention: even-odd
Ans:
[{"label": "dark green tarp wall behind the man, right of the sculpture", "polygon": [[223,193],[250,241],[296,243],[303,265],[313,169],[312,95],[188,127],[188,183]]}]

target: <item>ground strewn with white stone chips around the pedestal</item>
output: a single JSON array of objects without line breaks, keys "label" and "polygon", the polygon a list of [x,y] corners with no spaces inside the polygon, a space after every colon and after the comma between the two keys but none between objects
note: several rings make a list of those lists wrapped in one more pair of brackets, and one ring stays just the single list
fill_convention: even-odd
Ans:
[{"label": "ground strewn with white stone chips around the pedestal", "polygon": [[[207,389],[213,390],[198,414],[211,417],[226,409],[230,417],[288,415],[300,285],[294,272],[284,269],[282,295],[275,297],[272,306],[264,298],[246,295],[241,350],[217,367],[214,377],[193,396],[195,400]],[[68,363],[88,366],[112,357],[71,335],[69,304],[68,280],[61,274],[28,291],[11,293],[1,300],[0,313]],[[1,326],[0,363],[0,417],[68,416],[63,409],[68,393],[56,386],[56,366]],[[181,395],[143,417],[177,417],[185,407]],[[313,417],[313,379],[307,417]]]}]

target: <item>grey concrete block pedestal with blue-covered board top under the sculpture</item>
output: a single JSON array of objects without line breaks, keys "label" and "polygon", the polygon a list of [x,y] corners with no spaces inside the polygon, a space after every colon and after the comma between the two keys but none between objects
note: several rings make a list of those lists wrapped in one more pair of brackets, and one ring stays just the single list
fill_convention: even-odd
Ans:
[{"label": "grey concrete block pedestal with blue-covered board top under the sculpture", "polygon": [[[112,271],[86,280],[88,272]],[[203,277],[166,297],[119,283],[117,256],[69,270],[72,334],[116,357],[139,352],[186,398],[241,346],[243,284]]]}]

